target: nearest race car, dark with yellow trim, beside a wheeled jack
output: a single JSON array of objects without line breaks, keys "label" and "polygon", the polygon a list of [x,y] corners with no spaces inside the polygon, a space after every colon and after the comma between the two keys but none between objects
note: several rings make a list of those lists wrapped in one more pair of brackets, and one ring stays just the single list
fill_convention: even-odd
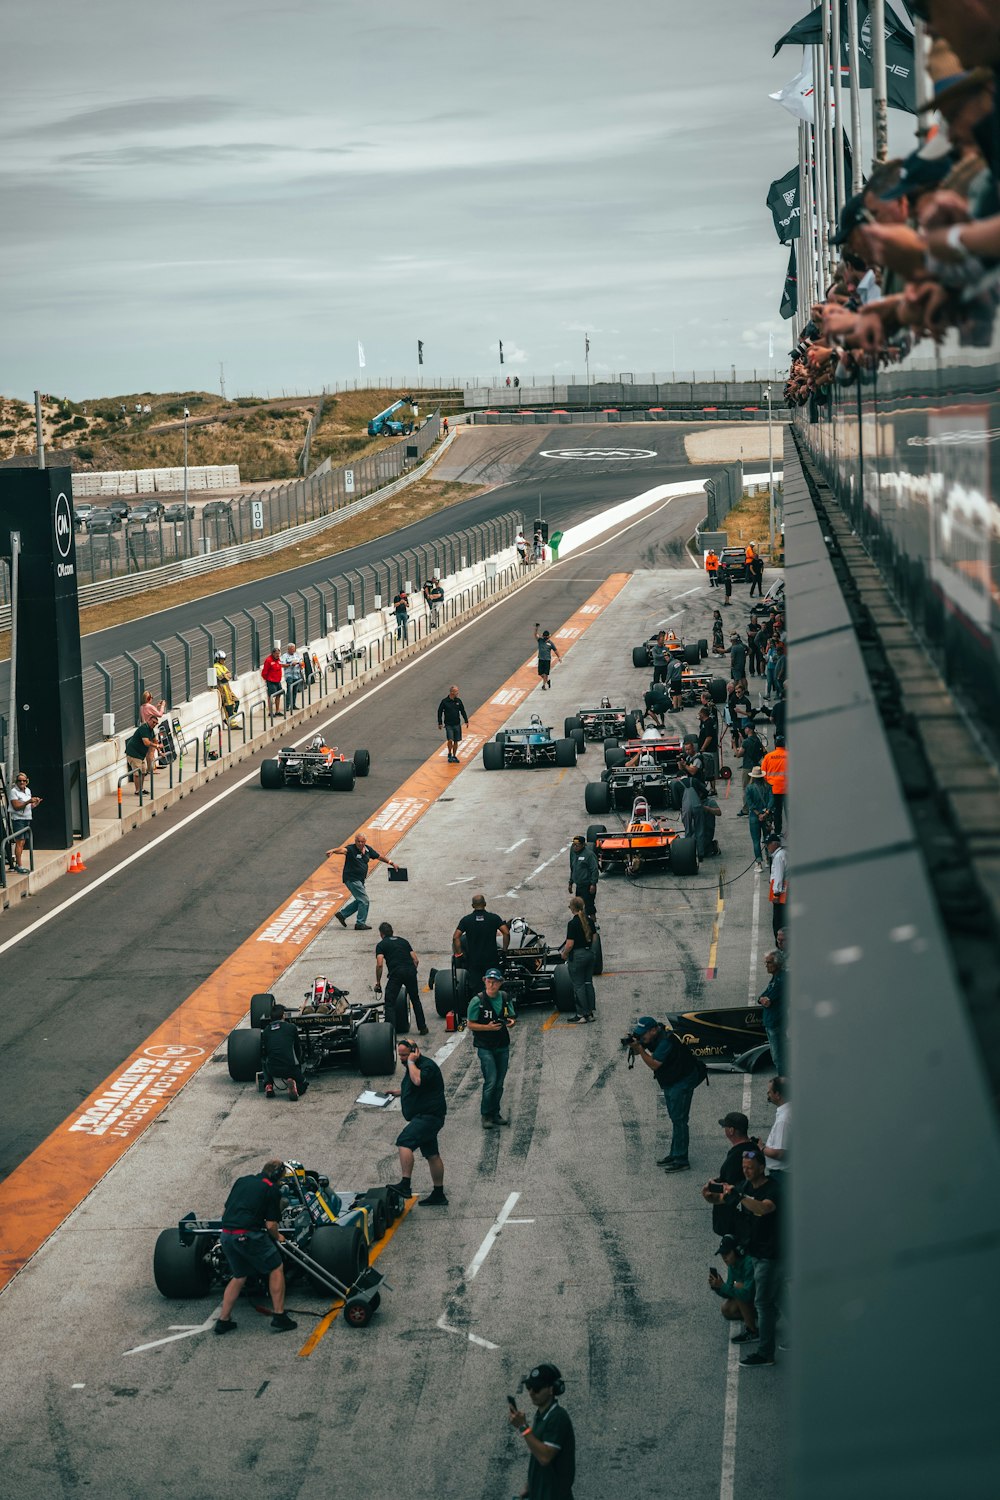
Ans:
[{"label": "nearest race car, dark with yellow trim, beside a wheeled jack", "polygon": [[[396,1222],[405,1198],[394,1188],[331,1192],[330,1179],[286,1161],[279,1180],[285,1236],[279,1245],[288,1281],[319,1296],[343,1296],[343,1318],[364,1328],[381,1302],[384,1276],[369,1266],[369,1251]],[[153,1280],[165,1298],[202,1298],[229,1281],[219,1234],[220,1220],[186,1214],[165,1228],[153,1250]],[[267,1296],[267,1276],[247,1280],[250,1299]]]}]

